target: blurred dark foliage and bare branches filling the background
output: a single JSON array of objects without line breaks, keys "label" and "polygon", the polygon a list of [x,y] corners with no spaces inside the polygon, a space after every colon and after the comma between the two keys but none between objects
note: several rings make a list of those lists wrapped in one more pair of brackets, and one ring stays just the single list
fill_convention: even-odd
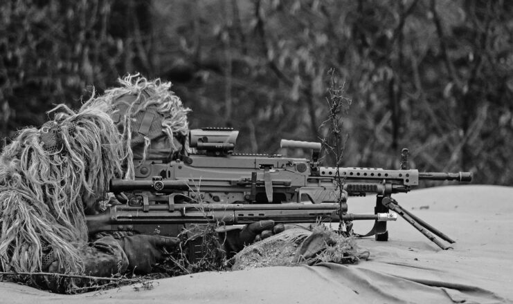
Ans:
[{"label": "blurred dark foliage and bare branches filling the background", "polygon": [[192,128],[276,153],[327,135],[333,68],[352,99],[343,166],[397,169],[408,147],[422,171],[512,185],[512,46],[505,0],[6,0],[0,146],[138,72],[174,83]]}]

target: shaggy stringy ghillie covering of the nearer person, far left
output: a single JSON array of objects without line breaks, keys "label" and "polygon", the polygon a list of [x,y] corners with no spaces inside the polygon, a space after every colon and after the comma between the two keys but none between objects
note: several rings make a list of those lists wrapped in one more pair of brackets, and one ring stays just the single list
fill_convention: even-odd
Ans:
[{"label": "shaggy stringy ghillie covering of the nearer person, far left", "polygon": [[105,193],[121,172],[120,136],[107,113],[66,106],[26,128],[0,155],[0,258],[6,272],[37,272],[51,253],[60,272],[81,272],[84,193]]}]

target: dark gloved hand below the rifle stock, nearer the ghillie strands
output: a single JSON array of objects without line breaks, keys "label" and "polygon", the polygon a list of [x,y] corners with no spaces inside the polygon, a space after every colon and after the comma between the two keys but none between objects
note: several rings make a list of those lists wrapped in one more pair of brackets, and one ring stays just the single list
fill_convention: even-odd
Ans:
[{"label": "dark gloved hand below the rifle stock, nearer the ghillie strands", "polygon": [[179,238],[136,234],[118,240],[128,258],[128,270],[135,274],[149,274],[157,263],[165,259],[165,250],[172,251],[180,244]]}]

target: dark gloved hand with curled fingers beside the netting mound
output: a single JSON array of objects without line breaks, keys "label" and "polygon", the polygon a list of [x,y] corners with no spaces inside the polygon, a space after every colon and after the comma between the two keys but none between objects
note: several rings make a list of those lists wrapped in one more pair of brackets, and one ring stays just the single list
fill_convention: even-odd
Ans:
[{"label": "dark gloved hand with curled fingers beside the netting mound", "polygon": [[242,228],[237,226],[222,226],[217,228],[219,240],[224,245],[228,258],[241,251],[245,245],[268,238],[286,229],[285,225],[275,225],[273,220],[260,220]]}]

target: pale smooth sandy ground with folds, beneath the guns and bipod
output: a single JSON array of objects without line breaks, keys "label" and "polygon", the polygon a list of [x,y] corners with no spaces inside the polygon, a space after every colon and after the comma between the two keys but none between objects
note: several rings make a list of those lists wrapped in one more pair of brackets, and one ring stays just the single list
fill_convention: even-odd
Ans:
[{"label": "pale smooth sandy ground with folds, beneath the guns and bipod", "polygon": [[[454,249],[441,250],[399,218],[388,242],[358,240],[371,255],[358,265],[206,272],[153,281],[151,290],[72,296],[0,283],[0,303],[513,303],[513,187],[436,187],[395,198],[455,239]],[[353,213],[372,213],[374,204],[348,202]],[[371,226],[356,222],[355,230]]]}]

